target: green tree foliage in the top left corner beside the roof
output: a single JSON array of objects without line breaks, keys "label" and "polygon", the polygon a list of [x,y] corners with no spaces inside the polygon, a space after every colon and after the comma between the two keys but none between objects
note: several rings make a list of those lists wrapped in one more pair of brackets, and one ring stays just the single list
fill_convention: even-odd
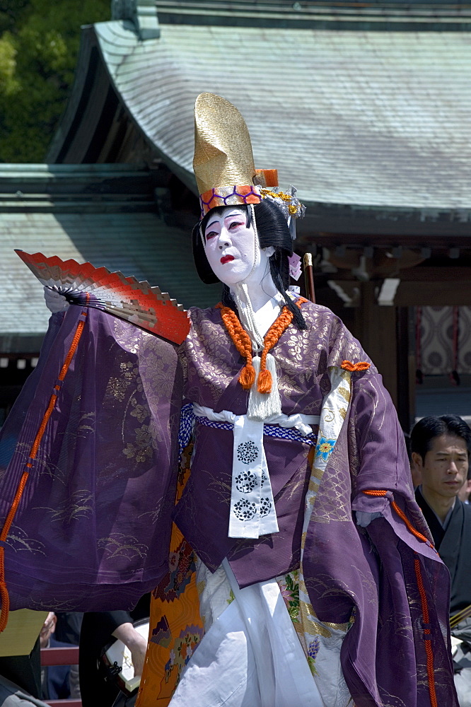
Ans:
[{"label": "green tree foliage in the top left corner beside the roof", "polygon": [[0,0],[0,161],[41,162],[64,111],[83,24],[110,0]]}]

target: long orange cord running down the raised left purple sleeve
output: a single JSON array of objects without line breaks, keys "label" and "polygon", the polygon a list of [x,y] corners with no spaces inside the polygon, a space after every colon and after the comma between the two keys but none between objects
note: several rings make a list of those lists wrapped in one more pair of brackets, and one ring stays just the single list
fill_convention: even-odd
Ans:
[{"label": "long orange cord running down the raised left purple sleeve", "polygon": [[[88,301],[88,295],[87,295],[87,301]],[[83,316],[86,317],[87,312],[81,312]],[[62,365],[61,372],[59,373],[59,380],[64,380],[65,375],[67,373],[67,370],[69,370],[69,366],[71,363],[72,358],[74,358],[74,354],[76,351],[76,348],[79,344],[80,337],[83,332],[83,327],[85,326],[85,322],[81,320],[77,324],[76,332],[74,334],[74,339],[71,341],[71,345],[69,346],[69,351],[67,352],[66,358],[64,360],[64,364]],[[59,385],[54,385],[54,390],[60,390]],[[31,450],[28,455],[30,460],[33,460],[36,458],[37,455],[37,450],[39,449],[39,445],[42,440],[42,436],[45,433],[47,423],[49,422],[50,416],[52,415],[52,411],[54,409],[54,405],[56,404],[57,401],[57,393],[52,393],[50,397],[49,404],[47,405],[47,409],[45,411],[45,414],[42,416],[41,424],[37,430],[35,439],[33,441],[33,445],[31,445]],[[26,481],[28,481],[29,477],[29,471],[33,464],[31,464],[30,461],[26,462],[25,466],[27,467],[23,474],[21,475],[21,479],[18,483],[18,486],[16,488],[15,496],[13,498],[13,502],[11,503],[11,508],[8,511],[8,515],[6,516],[6,520],[4,522],[4,527],[1,530],[0,533],[0,542],[5,542],[6,538],[8,537],[8,533],[10,532],[11,524],[13,522],[13,518],[15,518],[16,515],[16,510],[18,509],[18,506],[21,501],[21,496],[23,496],[23,491],[26,486]],[[6,587],[6,582],[5,582],[5,563],[4,563],[4,557],[5,557],[5,551],[4,547],[0,546],[0,597],[1,597],[1,612],[0,612],[0,633],[6,629],[6,624],[8,623],[8,613],[10,611],[10,597],[8,596],[8,589]]]}]

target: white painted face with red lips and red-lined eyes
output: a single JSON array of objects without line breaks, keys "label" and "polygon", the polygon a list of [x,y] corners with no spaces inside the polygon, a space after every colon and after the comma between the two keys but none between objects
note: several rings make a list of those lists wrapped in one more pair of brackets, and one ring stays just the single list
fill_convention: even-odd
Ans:
[{"label": "white painted face with red lips and red-lined eyes", "polygon": [[231,286],[252,278],[262,281],[268,258],[274,248],[260,250],[255,230],[246,225],[247,214],[239,206],[228,206],[209,216],[204,230],[204,252],[211,270],[224,284]]}]

